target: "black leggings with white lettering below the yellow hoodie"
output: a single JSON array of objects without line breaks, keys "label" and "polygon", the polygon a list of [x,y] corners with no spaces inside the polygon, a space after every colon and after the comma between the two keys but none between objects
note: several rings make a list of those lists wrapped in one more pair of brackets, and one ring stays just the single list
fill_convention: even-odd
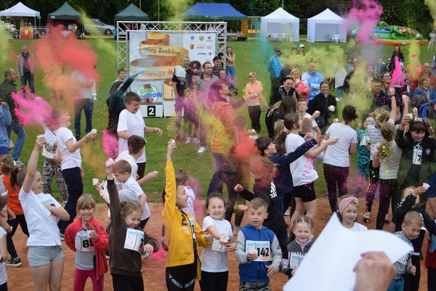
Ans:
[{"label": "black leggings with white lettering below the yellow hoodie", "polygon": [[[194,254],[196,257],[197,254]],[[193,291],[197,277],[197,259],[192,264],[166,267],[165,281],[168,291]]]}]

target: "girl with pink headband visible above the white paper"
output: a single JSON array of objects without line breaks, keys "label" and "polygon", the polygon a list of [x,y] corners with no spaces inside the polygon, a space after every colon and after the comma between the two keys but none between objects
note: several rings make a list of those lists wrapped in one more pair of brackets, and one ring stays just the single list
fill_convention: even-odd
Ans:
[{"label": "girl with pink headband visible above the white paper", "polygon": [[345,228],[352,230],[353,232],[364,232],[368,228],[360,223],[357,223],[357,210],[359,207],[359,201],[353,196],[342,196],[337,205],[337,212],[339,220]]}]

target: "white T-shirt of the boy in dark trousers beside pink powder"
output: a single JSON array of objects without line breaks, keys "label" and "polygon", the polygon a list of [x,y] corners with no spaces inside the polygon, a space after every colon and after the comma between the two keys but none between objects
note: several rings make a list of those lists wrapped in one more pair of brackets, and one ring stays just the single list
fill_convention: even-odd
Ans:
[{"label": "white T-shirt of the boy in dark trousers beside pink powder", "polygon": [[60,163],[60,170],[72,169],[82,167],[82,157],[80,156],[80,149],[77,149],[73,153],[67,148],[66,142],[72,139],[73,143],[77,140],[73,135],[73,132],[68,128],[59,128],[56,132],[57,146],[62,157],[62,162]]}]

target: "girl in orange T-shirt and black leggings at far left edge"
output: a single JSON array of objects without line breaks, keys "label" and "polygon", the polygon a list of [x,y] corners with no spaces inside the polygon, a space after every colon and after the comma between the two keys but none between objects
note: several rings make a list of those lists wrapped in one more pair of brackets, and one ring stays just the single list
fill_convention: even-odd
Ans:
[{"label": "girl in orange T-shirt and black leggings at far left edge", "polygon": [[[5,184],[6,191],[8,191],[8,209],[15,215],[15,219],[8,220],[8,224],[12,227],[12,232],[6,235],[6,242],[11,258],[5,262],[5,265],[19,267],[22,263],[15,250],[12,237],[17,230],[18,224],[21,226],[21,231],[27,236],[29,236],[29,230],[27,228],[26,218],[24,217],[23,207],[21,207],[21,203],[18,200],[19,189],[17,189],[17,192],[14,188],[11,188],[11,171],[14,169],[14,160],[10,155],[4,155],[2,156],[2,163],[3,183]],[[19,167],[15,167],[18,170]]]}]

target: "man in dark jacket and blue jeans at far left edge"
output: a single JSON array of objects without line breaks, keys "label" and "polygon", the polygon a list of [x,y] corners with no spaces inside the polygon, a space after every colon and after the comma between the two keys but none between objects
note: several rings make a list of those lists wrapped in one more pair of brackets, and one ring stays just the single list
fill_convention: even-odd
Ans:
[{"label": "man in dark jacket and blue jeans at far left edge", "polygon": [[26,132],[24,131],[23,126],[19,123],[17,116],[15,115],[15,101],[12,98],[12,93],[16,93],[17,89],[15,88],[15,81],[17,80],[17,73],[14,69],[6,69],[5,70],[5,80],[2,84],[0,84],[0,101],[7,102],[9,106],[9,110],[12,116],[12,123],[9,127],[7,127],[8,138],[11,137],[11,129],[17,135],[17,140],[15,141],[14,152],[12,153],[12,158],[15,160],[15,163],[20,167],[25,167],[25,164],[19,160],[19,155],[21,154],[21,150],[23,150],[24,140],[26,139]]}]

